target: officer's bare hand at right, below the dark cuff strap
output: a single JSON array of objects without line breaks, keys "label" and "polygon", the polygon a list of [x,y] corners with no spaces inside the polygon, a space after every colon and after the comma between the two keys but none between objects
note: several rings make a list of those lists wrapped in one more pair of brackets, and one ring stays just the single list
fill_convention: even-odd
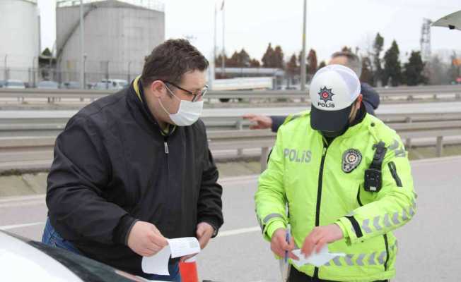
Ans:
[{"label": "officer's bare hand at right, below the dark cuff strap", "polygon": [[342,230],[337,224],[315,227],[305,238],[301,253],[309,257],[313,250],[318,253],[325,244],[341,240],[343,237]]}]

